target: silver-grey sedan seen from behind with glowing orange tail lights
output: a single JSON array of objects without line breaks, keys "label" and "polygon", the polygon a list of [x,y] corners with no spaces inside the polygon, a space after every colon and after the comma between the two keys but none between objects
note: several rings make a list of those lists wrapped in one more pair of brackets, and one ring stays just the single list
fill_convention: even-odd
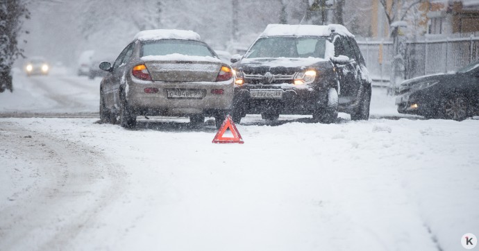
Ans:
[{"label": "silver-grey sedan seen from behind with glowing orange tail lights", "polygon": [[189,116],[221,126],[233,105],[233,71],[193,31],[151,30],[135,35],[100,85],[101,121],[133,128],[137,116]]}]

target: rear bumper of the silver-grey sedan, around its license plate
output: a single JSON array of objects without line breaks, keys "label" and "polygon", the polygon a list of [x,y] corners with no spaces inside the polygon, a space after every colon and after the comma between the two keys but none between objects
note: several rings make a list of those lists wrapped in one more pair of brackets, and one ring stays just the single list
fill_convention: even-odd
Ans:
[{"label": "rear bumper of the silver-grey sedan, around its license plate", "polygon": [[[156,93],[146,93],[145,88],[156,88]],[[168,89],[201,90],[201,98],[168,98]],[[223,94],[212,94],[212,89],[223,89]],[[224,82],[144,82],[130,83],[126,99],[139,114],[182,116],[212,114],[217,110],[231,110],[233,106],[233,80]]]}]

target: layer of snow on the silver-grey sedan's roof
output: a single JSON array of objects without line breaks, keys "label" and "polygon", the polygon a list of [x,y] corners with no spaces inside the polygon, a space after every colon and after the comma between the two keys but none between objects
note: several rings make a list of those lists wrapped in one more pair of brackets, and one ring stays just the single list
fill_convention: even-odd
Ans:
[{"label": "layer of snow on the silver-grey sedan's roof", "polygon": [[140,31],[133,40],[201,40],[200,35],[194,31],[185,30],[146,30]]}]

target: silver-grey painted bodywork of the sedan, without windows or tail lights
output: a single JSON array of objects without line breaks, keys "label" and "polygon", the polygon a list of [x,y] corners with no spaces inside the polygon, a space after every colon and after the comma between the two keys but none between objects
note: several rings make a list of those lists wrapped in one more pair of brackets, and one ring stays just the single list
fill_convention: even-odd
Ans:
[{"label": "silver-grey painted bodywork of the sedan, without windows or tail lights", "polygon": [[[177,72],[175,76],[171,76],[171,79],[158,80],[158,74],[160,73],[156,72],[154,64],[175,64],[178,62],[143,60],[140,58],[142,42],[144,41],[133,40],[131,44],[128,44],[115,60],[107,76],[101,80],[101,95],[105,107],[110,112],[119,114],[121,92],[125,92],[126,101],[137,116],[190,116],[192,114],[214,116],[215,112],[219,110],[228,111],[231,109],[233,104],[233,78],[215,82],[217,73],[224,65],[219,60],[214,78],[211,77],[211,73],[210,78],[208,78],[205,76],[207,73],[190,72],[191,74],[189,74],[189,72],[184,71],[183,73]],[[208,48],[210,47],[208,46]],[[210,49],[210,51],[212,50]],[[212,53],[217,57],[213,51]],[[153,81],[140,80],[132,75],[133,67],[138,64],[146,64]],[[147,87],[158,88],[159,91],[155,94],[148,94],[144,92]],[[203,98],[171,99],[167,98],[167,89],[201,89]],[[212,94],[212,89],[224,89],[224,94]]]}]

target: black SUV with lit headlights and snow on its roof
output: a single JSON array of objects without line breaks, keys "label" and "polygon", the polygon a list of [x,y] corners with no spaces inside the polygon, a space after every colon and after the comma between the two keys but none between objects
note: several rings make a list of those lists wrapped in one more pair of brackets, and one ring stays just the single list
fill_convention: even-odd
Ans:
[{"label": "black SUV with lit headlights and snow on its roof", "polygon": [[235,71],[233,120],[261,114],[312,114],[333,123],[337,112],[369,119],[371,78],[354,36],[341,25],[269,24]]}]

